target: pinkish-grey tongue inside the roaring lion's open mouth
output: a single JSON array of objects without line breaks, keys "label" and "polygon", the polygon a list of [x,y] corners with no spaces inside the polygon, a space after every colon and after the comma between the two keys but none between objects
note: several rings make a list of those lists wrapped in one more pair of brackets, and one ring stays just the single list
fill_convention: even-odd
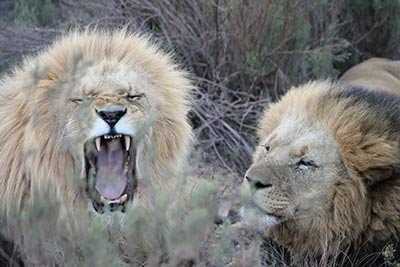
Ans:
[{"label": "pinkish-grey tongue inside the roaring lion's open mouth", "polygon": [[119,198],[125,190],[125,151],[120,139],[103,140],[97,154],[96,189],[108,199]]}]

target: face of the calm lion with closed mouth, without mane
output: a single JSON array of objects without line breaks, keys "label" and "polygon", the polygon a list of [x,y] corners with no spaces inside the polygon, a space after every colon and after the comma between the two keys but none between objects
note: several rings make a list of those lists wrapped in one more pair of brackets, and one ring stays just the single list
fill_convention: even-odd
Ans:
[{"label": "face of the calm lion with closed mouth, without mane", "polygon": [[[254,207],[274,226],[288,219],[321,214],[332,180],[343,174],[339,147],[332,133],[306,125],[299,114],[275,128],[257,147],[244,186]],[[263,225],[260,225],[263,226]]]}]

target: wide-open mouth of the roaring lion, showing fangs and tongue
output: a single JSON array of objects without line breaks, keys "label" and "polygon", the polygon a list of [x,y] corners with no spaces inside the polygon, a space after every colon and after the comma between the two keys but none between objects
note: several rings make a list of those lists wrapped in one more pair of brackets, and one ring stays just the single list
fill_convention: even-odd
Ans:
[{"label": "wide-open mouth of the roaring lion, showing fangs and tongue", "polygon": [[94,209],[125,210],[136,187],[136,149],[132,138],[123,134],[106,134],[85,143],[87,190]]}]

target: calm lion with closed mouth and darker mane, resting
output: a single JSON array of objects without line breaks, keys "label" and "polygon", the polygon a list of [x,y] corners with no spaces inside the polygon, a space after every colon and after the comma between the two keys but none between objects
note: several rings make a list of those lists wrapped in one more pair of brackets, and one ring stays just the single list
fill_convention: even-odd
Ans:
[{"label": "calm lion with closed mouth and darker mane, resting", "polygon": [[368,88],[353,70],[346,81],[311,82],[289,90],[260,121],[242,184],[242,224],[296,261],[381,251],[400,236],[400,96],[390,93],[394,87],[380,89],[396,83],[369,63],[353,69],[377,67],[382,76]]}]

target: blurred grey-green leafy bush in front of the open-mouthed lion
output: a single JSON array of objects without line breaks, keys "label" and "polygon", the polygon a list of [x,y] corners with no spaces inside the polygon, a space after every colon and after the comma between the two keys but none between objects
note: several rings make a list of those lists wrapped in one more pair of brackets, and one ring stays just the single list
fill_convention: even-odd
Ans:
[{"label": "blurred grey-green leafy bush in front of the open-mouthed lion", "polygon": [[224,257],[214,248],[221,247],[219,238],[207,243],[219,206],[216,185],[198,183],[189,196],[157,192],[124,214],[102,215],[88,213],[90,203],[68,209],[52,191],[35,195],[34,204],[27,202],[3,225],[18,230],[14,240],[28,266],[204,266],[211,263],[206,255]]}]

